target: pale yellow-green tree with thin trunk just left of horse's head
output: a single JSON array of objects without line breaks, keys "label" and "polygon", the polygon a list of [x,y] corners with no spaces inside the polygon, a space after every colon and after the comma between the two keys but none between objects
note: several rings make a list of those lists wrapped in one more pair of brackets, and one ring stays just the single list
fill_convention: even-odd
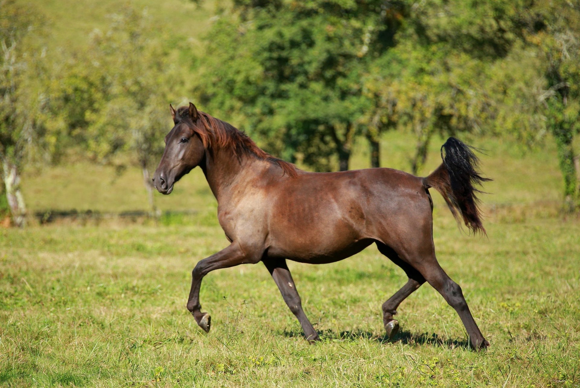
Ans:
[{"label": "pale yellow-green tree with thin trunk just left of horse's head", "polygon": [[169,102],[184,89],[170,56],[179,45],[159,35],[146,12],[126,6],[111,18],[109,30],[95,32],[87,52],[54,80],[52,111],[90,159],[139,166],[155,213],[149,170],[164,148]]}]

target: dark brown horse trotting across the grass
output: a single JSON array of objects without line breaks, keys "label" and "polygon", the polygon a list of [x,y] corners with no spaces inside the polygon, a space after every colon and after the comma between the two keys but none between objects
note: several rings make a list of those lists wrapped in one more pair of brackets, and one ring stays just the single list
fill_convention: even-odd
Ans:
[{"label": "dark brown horse trotting across the grass", "polygon": [[[171,107],[171,105],[170,105]],[[322,264],[339,261],[375,243],[409,280],[383,303],[389,337],[398,331],[398,305],[428,281],[461,317],[471,345],[485,341],[461,287],[439,266],[433,245],[433,202],[429,188],[444,197],[452,213],[473,232],[485,233],[474,184],[485,181],[474,167],[472,149],[449,138],[443,164],[426,178],[393,169],[308,173],[273,158],[233,126],[198,111],[193,104],[171,107],[175,126],[153,178],[164,194],[200,166],[218,200],[218,219],[230,246],[197,263],[187,309],[207,332],[200,285],[212,270],[263,262],[282,297],[300,321],[308,341],[318,334],[302,310],[287,260]]]}]

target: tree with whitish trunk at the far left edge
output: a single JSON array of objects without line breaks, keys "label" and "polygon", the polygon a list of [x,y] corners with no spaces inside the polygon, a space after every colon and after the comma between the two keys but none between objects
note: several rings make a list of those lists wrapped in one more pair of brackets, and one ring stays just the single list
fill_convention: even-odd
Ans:
[{"label": "tree with whitish trunk at the far left edge", "polygon": [[26,39],[41,19],[11,0],[1,0],[0,9],[0,175],[12,220],[24,226],[21,169],[31,158],[31,147],[50,141],[40,120],[44,96],[38,82],[39,54]]}]

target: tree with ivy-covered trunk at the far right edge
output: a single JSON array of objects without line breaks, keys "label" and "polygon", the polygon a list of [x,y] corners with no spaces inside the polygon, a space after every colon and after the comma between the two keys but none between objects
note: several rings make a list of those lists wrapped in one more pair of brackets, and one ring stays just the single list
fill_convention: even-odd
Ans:
[{"label": "tree with ivy-covered trunk at the far right edge", "polygon": [[496,125],[528,145],[552,134],[565,210],[580,210],[580,2],[529,1],[510,18],[521,43],[493,69]]}]

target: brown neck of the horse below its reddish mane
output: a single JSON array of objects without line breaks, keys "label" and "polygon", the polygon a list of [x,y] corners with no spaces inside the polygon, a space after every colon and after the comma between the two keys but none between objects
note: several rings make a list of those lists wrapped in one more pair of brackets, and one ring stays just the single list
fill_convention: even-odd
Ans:
[{"label": "brown neck of the horse below its reddish mane", "polygon": [[250,155],[234,155],[229,149],[218,149],[206,152],[202,170],[213,195],[218,200],[226,202],[231,197],[233,186],[238,182],[251,180],[263,170],[260,160]]}]

